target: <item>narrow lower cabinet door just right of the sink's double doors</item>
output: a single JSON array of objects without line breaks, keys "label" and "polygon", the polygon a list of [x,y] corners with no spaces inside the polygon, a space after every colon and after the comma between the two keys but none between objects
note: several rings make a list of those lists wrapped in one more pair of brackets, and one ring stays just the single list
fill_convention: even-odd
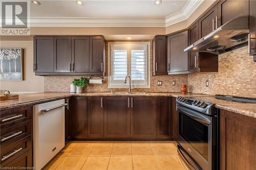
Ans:
[{"label": "narrow lower cabinet door just right of the sink's double doors", "polygon": [[170,99],[168,97],[157,98],[157,138],[170,138]]}]

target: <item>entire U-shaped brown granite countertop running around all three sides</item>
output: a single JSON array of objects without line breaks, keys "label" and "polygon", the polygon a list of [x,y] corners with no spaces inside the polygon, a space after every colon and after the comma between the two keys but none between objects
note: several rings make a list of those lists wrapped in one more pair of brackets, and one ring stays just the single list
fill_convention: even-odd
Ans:
[{"label": "entire U-shaped brown granite countertop running around all three sides", "polygon": [[83,92],[83,93],[70,93],[70,92],[41,92],[41,93],[28,93],[20,94],[19,99],[1,101],[0,110],[10,109],[18,106],[34,105],[44,103],[57,99],[68,98],[70,96],[183,96],[201,100],[205,102],[215,103],[216,108],[236,112],[239,114],[247,115],[256,118],[256,104],[237,103],[215,99],[213,95],[185,93],[180,92],[146,92],[146,93],[110,93],[110,92]]}]

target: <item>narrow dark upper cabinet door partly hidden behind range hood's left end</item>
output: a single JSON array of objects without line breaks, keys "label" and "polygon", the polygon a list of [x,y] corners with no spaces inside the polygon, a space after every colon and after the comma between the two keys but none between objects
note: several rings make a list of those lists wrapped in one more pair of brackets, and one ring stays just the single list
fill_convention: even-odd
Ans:
[{"label": "narrow dark upper cabinet door partly hidden behind range hood's left end", "polygon": [[[188,30],[188,44],[191,45],[199,39],[198,21]],[[198,52],[189,52],[189,70],[198,68]]]}]

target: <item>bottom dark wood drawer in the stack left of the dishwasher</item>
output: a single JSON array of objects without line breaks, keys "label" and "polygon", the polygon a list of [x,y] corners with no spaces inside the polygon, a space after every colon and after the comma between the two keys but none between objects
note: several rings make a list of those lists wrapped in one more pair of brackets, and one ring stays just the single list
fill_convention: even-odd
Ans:
[{"label": "bottom dark wood drawer in the stack left of the dishwasher", "polygon": [[[22,156],[18,157],[17,159],[13,160],[12,162],[8,163],[5,167],[6,169],[33,169],[33,159],[32,159],[32,150],[29,150]],[[8,168],[7,168],[8,167]]]}]

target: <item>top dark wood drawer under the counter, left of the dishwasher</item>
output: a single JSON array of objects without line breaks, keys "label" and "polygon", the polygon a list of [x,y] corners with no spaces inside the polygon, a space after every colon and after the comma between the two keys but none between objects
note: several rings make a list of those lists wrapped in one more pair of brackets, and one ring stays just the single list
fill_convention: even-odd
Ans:
[{"label": "top dark wood drawer under the counter, left of the dishwasher", "polygon": [[5,129],[32,119],[32,106],[1,110],[0,128]]}]

